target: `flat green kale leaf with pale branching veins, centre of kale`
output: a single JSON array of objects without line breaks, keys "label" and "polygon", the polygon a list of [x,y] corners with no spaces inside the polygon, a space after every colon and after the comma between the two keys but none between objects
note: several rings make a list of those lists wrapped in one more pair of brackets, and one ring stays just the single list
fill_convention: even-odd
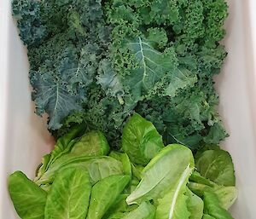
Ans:
[{"label": "flat green kale leaf with pale branching veins, centre of kale", "polygon": [[177,66],[176,54],[172,49],[161,53],[150,43],[138,37],[128,43],[134,67],[125,81],[132,88],[133,95],[148,94],[155,84]]}]

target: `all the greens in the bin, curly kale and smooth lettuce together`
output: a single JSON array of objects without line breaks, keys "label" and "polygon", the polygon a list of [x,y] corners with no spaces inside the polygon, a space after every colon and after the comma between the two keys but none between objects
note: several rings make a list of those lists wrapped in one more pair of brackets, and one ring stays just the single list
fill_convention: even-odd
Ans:
[{"label": "all the greens in the bin, curly kale and smooth lettuce together", "polygon": [[[224,0],[13,0],[53,151],[9,176],[22,219],[231,219],[213,77]],[[111,147],[109,147],[108,145]]]}]

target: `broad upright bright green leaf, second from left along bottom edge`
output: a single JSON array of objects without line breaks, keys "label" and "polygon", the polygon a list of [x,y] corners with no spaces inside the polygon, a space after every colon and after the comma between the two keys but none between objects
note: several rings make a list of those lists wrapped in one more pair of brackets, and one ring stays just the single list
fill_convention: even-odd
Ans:
[{"label": "broad upright bright green leaf, second from left along bottom edge", "polygon": [[84,219],[90,200],[90,176],[79,167],[59,171],[45,205],[45,219]]}]

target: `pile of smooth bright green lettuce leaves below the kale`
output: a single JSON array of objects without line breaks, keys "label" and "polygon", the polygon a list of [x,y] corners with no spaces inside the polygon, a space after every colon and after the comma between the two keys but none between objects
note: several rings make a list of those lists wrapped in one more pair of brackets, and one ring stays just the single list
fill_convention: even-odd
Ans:
[{"label": "pile of smooth bright green lettuce leaves below the kale", "polygon": [[31,181],[9,176],[22,219],[231,219],[236,200],[230,154],[217,146],[164,147],[154,125],[134,114],[119,152],[100,131],[74,127],[56,141]]}]

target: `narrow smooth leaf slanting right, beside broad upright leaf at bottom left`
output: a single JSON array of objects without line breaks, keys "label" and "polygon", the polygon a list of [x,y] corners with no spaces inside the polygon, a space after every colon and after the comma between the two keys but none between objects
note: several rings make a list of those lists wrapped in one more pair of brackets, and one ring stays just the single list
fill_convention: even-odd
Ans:
[{"label": "narrow smooth leaf slanting right, beside broad upright leaf at bottom left", "polygon": [[129,176],[113,175],[92,187],[87,219],[101,219],[130,181]]}]

